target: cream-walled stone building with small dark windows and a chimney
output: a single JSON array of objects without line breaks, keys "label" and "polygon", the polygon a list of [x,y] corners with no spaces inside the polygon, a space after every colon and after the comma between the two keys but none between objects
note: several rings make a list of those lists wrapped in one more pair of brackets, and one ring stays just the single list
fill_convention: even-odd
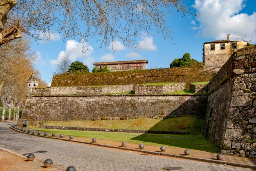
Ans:
[{"label": "cream-walled stone building with small dark windows and a chimney", "polygon": [[214,40],[204,43],[204,66],[220,68],[237,49],[247,46],[246,41]]}]

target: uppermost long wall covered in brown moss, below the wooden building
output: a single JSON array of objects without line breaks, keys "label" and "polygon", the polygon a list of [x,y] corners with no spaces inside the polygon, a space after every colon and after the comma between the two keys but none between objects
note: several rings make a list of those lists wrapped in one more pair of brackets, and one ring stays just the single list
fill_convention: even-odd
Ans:
[{"label": "uppermost long wall covered in brown moss, below the wooden building", "polygon": [[150,82],[190,82],[209,81],[213,72],[202,67],[182,67],[167,69],[147,69],[140,71],[118,71],[107,73],[54,75],[52,87],[99,86],[144,84]]}]

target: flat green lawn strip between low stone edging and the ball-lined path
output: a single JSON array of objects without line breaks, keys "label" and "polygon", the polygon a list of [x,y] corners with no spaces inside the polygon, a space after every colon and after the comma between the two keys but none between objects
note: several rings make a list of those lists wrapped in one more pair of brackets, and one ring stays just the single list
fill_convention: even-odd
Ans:
[{"label": "flat green lawn strip between low stone edging and the ball-lined path", "polygon": [[202,135],[170,135],[170,134],[150,134],[150,133],[118,133],[118,132],[97,132],[97,131],[70,131],[57,129],[40,129],[29,127],[42,132],[73,135],[75,137],[97,138],[101,140],[110,140],[117,142],[130,142],[135,144],[143,143],[145,145],[167,147],[181,147],[217,153],[217,148]]}]

